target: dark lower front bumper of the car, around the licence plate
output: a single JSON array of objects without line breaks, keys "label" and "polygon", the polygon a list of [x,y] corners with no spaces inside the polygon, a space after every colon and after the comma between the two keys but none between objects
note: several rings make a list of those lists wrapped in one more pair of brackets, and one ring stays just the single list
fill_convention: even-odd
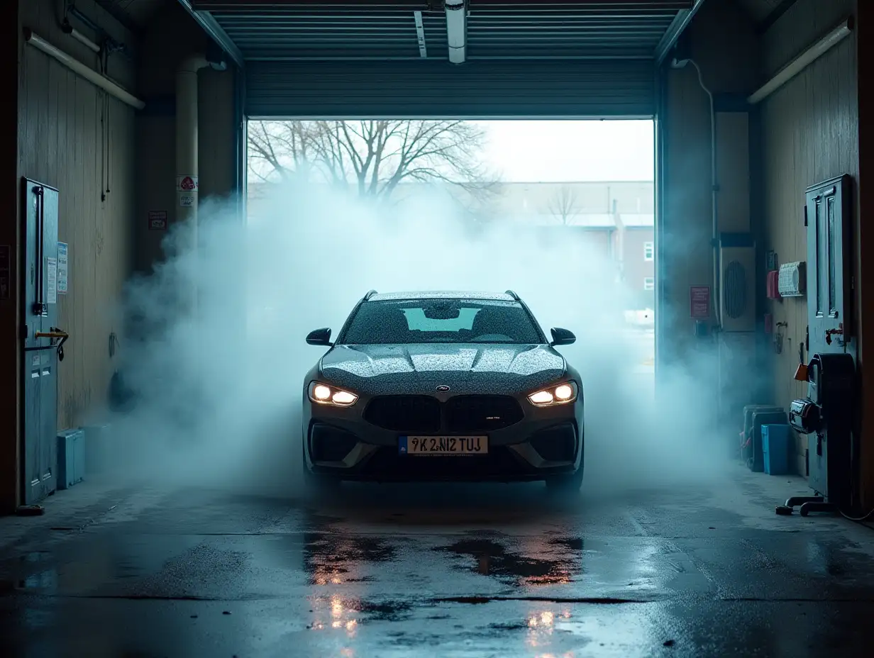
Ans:
[{"label": "dark lower front bumper of the car, around the licence plate", "polygon": [[486,434],[486,455],[399,454],[399,437],[360,410],[304,401],[304,468],[347,481],[543,481],[583,468],[583,401],[525,409],[524,419]]}]

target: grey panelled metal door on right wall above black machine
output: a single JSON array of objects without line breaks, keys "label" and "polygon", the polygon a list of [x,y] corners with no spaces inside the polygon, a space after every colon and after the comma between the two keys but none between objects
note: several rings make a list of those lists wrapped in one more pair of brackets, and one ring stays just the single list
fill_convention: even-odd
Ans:
[{"label": "grey panelled metal door on right wall above black machine", "polygon": [[845,175],[807,190],[809,354],[850,342],[850,184]]}]

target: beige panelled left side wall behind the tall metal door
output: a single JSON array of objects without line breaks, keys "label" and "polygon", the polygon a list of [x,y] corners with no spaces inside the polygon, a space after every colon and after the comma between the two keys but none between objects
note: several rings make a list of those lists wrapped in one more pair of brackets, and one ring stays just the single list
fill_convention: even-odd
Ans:
[{"label": "beige panelled left side wall behind the tall metal door", "polygon": [[[96,68],[94,53],[60,31],[59,6],[22,3],[22,24]],[[94,3],[77,6],[135,52],[133,35]],[[131,272],[134,110],[30,45],[20,45],[20,61],[19,174],[59,189],[59,240],[69,245],[69,292],[58,304],[71,338],[59,366],[58,424],[79,426],[105,402],[114,370],[109,336],[121,334],[115,315]],[[111,58],[108,72],[132,87],[127,59]]]}]

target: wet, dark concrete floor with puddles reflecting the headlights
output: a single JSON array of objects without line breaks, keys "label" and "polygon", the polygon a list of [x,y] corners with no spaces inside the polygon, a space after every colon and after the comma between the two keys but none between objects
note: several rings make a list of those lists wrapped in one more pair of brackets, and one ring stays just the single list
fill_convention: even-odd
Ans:
[{"label": "wet, dark concrete floor with puddles reflecting the headlights", "polygon": [[874,532],[775,516],[765,477],[574,501],[83,484],[0,519],[0,655],[872,655]]}]

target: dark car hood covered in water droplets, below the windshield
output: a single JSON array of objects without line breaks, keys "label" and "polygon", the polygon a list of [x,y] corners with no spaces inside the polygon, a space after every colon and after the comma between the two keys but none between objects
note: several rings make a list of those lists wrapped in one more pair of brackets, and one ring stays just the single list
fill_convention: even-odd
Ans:
[{"label": "dark car hood covered in water droplets, below the windshield", "polygon": [[547,345],[447,344],[337,345],[322,358],[331,384],[365,395],[518,393],[565,374],[565,358]]}]

